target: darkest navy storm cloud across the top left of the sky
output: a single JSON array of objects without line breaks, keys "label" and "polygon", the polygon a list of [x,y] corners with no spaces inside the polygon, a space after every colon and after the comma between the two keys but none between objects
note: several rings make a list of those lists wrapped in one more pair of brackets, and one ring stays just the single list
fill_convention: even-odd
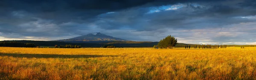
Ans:
[{"label": "darkest navy storm cloud across the top left of the sky", "polygon": [[[183,3],[186,1],[187,0],[2,0],[0,10],[1,14],[6,17],[11,17],[9,15],[10,13],[19,12],[20,14],[27,14],[29,17],[54,20],[56,23],[74,20],[76,22],[85,23],[88,22],[88,18],[94,18],[96,15],[109,11],[119,11],[136,6],[143,6],[144,4],[147,4],[149,7]],[[189,0],[189,2],[196,1],[198,0]]]}]

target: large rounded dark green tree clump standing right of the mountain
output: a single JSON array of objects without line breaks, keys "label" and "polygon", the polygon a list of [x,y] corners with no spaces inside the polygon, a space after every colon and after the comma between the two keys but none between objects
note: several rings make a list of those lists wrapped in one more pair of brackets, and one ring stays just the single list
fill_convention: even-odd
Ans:
[{"label": "large rounded dark green tree clump standing right of the mountain", "polygon": [[171,35],[167,36],[157,44],[160,49],[173,49],[177,44],[177,39]]}]

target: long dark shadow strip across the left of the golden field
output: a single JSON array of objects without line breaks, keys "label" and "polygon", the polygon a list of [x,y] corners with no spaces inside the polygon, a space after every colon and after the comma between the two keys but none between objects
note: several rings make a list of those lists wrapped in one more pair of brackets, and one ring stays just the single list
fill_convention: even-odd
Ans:
[{"label": "long dark shadow strip across the left of the golden field", "polygon": [[115,55],[64,55],[64,54],[6,54],[0,53],[0,56],[26,57],[26,58],[90,58],[90,57],[117,57]]}]

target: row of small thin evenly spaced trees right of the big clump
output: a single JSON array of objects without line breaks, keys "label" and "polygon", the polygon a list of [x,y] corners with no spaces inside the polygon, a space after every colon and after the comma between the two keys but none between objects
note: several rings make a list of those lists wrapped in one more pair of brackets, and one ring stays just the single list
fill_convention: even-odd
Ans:
[{"label": "row of small thin evenly spaced trees right of the big clump", "polygon": [[194,49],[226,49],[227,48],[227,45],[210,45],[210,44],[207,44],[207,45],[186,45],[184,46],[185,49],[190,49],[190,48],[194,48]]}]

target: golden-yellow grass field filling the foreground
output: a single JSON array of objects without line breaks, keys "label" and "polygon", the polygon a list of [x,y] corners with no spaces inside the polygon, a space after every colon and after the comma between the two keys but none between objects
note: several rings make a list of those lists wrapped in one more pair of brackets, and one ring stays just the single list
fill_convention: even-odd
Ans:
[{"label": "golden-yellow grass field filling the foreground", "polygon": [[0,47],[0,80],[256,80],[256,48]]}]

